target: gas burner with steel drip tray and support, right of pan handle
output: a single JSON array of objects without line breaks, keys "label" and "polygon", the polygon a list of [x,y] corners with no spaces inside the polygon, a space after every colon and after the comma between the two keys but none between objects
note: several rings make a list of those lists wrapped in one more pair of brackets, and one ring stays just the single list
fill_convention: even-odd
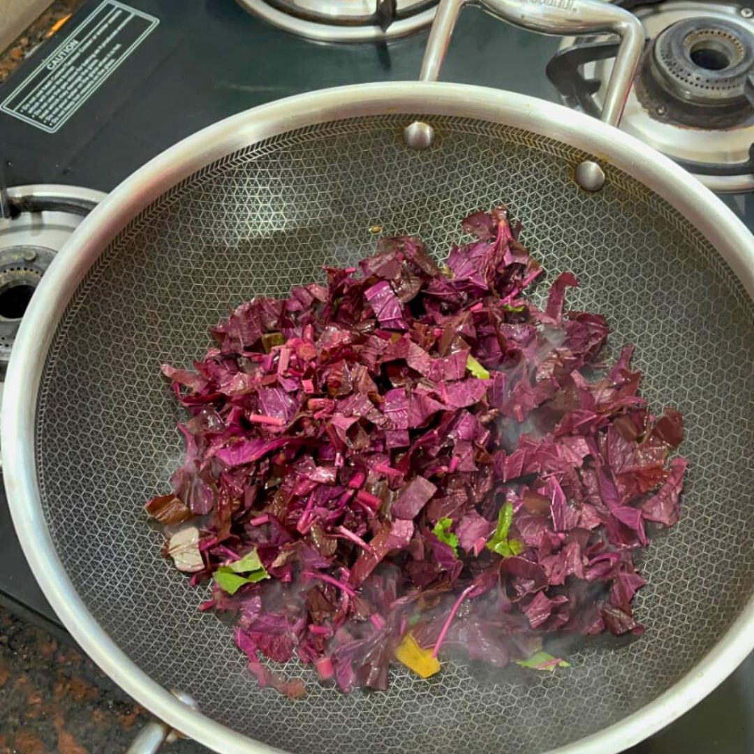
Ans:
[{"label": "gas burner with steel drip tray and support, right of pan handle", "polygon": [[[716,0],[618,0],[648,39],[621,119],[636,136],[718,192],[754,190],[754,13]],[[617,44],[572,37],[548,65],[563,101],[599,115]]]}]

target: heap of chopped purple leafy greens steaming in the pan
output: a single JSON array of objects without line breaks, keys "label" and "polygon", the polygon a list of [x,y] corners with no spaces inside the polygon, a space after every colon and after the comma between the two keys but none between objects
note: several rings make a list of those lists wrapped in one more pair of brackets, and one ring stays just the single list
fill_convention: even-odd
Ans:
[{"label": "heap of chopped purple leafy greens steaming in the pan", "polygon": [[302,696],[263,662],[294,655],[343,691],[449,653],[553,670],[555,632],[643,631],[634,557],[678,521],[682,416],[639,397],[633,347],[599,363],[608,326],[566,310],[572,274],[544,311],[524,297],[541,267],[504,207],[462,228],[441,267],[385,238],[162,367],[191,418],[146,509],[260,685]]}]

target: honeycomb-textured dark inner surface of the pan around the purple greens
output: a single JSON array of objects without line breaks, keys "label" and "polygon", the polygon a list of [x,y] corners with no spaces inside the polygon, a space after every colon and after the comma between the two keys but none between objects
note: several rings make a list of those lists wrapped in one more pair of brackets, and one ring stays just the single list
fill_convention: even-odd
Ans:
[{"label": "honeycomb-textured dark inner surface of the pan around the purple greens", "polygon": [[[437,142],[403,146],[405,115],[308,127],[228,155],[140,213],[66,309],[36,421],[44,513],[63,566],[104,630],[158,682],[207,715],[291,752],[538,754],[593,734],[665,691],[716,643],[754,583],[752,302],[670,205],[608,167],[575,187],[584,155],[500,124],[427,118]],[[443,257],[459,220],[497,202],[550,279],[571,270],[572,308],[599,311],[611,345],[636,343],[643,392],[677,406],[691,461],[682,520],[642,562],[646,636],[587,647],[556,673],[480,679],[449,662],[422,681],[394,672],[385,694],[308,682],[292,703],[261,691],[231,630],[197,605],[160,554],[143,503],[179,464],[179,412],[159,365],[188,365],[209,327],[252,296],[284,296],[375,248],[369,228],[421,234]],[[700,207],[703,211],[703,207]],[[373,230],[374,228],[372,228]]]}]

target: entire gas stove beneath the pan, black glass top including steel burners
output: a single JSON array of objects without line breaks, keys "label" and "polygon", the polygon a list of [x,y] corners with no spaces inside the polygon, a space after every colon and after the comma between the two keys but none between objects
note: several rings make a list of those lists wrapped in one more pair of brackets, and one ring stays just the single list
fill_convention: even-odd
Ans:
[{"label": "entire gas stove beneath the pan, black glass top including steel burners", "polygon": [[[688,11],[691,5],[699,12]],[[83,5],[0,86],[0,160],[11,186],[7,200],[0,197],[0,375],[36,283],[101,192],[182,137],[235,112],[305,90],[418,78],[425,29],[436,6],[434,0],[89,0]],[[737,60],[737,35],[746,38],[741,30],[749,29],[743,8],[736,6],[731,14],[731,7],[667,0],[636,9],[648,35],[658,41],[648,45],[645,74],[637,78],[624,127],[679,161],[748,160],[754,139],[747,129],[754,126],[746,106],[740,103],[736,121],[739,101],[725,92],[716,97],[703,88],[706,84],[689,99],[683,77],[697,74],[688,61],[686,69],[677,69],[663,54],[666,49],[676,54],[680,45],[710,77],[725,72],[721,61]],[[699,24],[698,17],[715,17],[716,25]],[[694,23],[661,38],[672,23],[689,21]],[[732,37],[723,33],[722,22],[737,24]],[[597,41],[596,47],[586,44],[572,39],[559,48],[555,38],[493,23],[472,8],[461,14],[443,79],[553,101],[562,97],[593,112],[615,45],[611,39]],[[746,44],[741,54],[749,54]],[[556,85],[545,75],[548,60],[547,73]],[[715,128],[694,109],[706,106],[703,100],[725,100],[719,111],[725,110],[723,121]],[[663,105],[668,109],[660,112]],[[741,136],[743,146],[732,143],[731,134]],[[749,179],[750,172],[747,168]],[[754,193],[743,191],[752,183],[740,176],[717,177],[710,185],[734,191],[725,201],[754,228]],[[2,486],[0,599],[35,620],[57,624],[17,544]],[[752,679],[754,659],[749,658],[718,691],[633,754],[754,751]]]}]

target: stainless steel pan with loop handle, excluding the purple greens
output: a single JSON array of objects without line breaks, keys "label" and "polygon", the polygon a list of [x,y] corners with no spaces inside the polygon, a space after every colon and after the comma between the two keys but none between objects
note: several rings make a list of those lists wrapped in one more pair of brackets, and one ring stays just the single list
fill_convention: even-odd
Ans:
[{"label": "stainless steel pan with loop handle, excluding the purple greens", "polygon": [[[538,31],[619,33],[605,124],[430,81],[462,5],[438,11],[427,81],[280,100],[155,158],[78,228],[17,336],[2,456],[32,569],[106,673],[217,751],[608,754],[688,710],[754,643],[752,237],[691,176],[611,125],[641,47],[630,14],[590,0],[481,4]],[[682,521],[642,562],[647,635],[620,651],[584,649],[567,672],[529,685],[450,663],[432,682],[396,670],[385,694],[312,683],[292,703],[261,691],[146,523],[143,501],[182,452],[158,364],[202,354],[208,326],[239,301],[366,255],[370,226],[419,233],[443,255],[458,218],[496,201],[523,219],[550,273],[580,278],[572,304],[605,313],[613,345],[637,344],[648,398],[687,417]],[[311,680],[296,664],[281,672]]]}]

